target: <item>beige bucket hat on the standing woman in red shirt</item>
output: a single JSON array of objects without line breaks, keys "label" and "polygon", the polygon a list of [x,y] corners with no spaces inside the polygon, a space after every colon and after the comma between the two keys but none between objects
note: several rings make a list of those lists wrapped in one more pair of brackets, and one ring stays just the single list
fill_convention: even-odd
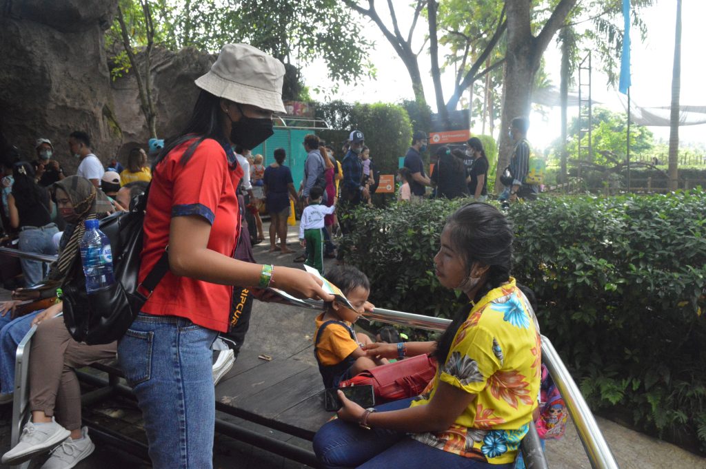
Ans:
[{"label": "beige bucket hat on the standing woman in red shirt", "polygon": [[285,113],[285,66],[249,44],[225,44],[208,73],[194,83],[212,95]]}]

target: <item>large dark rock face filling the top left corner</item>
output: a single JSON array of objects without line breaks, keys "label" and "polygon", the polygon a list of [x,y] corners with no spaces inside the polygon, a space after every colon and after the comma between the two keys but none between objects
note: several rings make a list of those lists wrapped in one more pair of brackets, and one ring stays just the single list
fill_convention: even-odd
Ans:
[{"label": "large dark rock face filling the top left corner", "polygon": [[75,171],[67,145],[73,130],[91,135],[104,162],[119,147],[103,45],[116,6],[116,0],[0,0],[0,120],[25,158],[35,157],[35,139],[43,136]]}]

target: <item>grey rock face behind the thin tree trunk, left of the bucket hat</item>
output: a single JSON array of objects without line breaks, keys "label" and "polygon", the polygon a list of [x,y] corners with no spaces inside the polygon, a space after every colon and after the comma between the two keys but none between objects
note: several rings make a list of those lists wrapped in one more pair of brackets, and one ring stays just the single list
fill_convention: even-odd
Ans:
[{"label": "grey rock face behind the thin tree trunk, left of the bucket hat", "polygon": [[[138,54],[140,70],[144,70],[143,53]],[[169,138],[184,128],[191,116],[198,88],[193,80],[206,73],[216,57],[196,49],[152,50],[152,96],[157,111],[157,137]],[[131,71],[112,82],[116,121],[123,133],[124,144],[119,159],[125,162],[130,148],[138,145],[145,150],[150,138],[145,117],[140,111],[137,80]]]}]

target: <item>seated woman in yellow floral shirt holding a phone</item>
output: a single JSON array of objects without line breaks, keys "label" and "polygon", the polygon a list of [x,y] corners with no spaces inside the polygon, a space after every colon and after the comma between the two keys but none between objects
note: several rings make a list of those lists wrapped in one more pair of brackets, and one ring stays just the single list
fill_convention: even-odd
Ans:
[{"label": "seated woman in yellow floral shirt holding a phone", "polygon": [[[429,392],[364,409],[339,391],[338,419],[313,447],[326,468],[511,468],[539,394],[539,327],[510,276],[513,233],[491,205],[452,214],[434,257],[446,288],[469,299],[437,343],[408,342],[406,355],[433,353]],[[396,358],[397,344],[366,346]]]}]

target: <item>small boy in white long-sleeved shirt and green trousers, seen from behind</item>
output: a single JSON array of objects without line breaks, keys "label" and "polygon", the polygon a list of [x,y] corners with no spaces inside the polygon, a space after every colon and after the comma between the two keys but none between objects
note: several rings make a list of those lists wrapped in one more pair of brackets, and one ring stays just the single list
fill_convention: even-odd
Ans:
[{"label": "small boy in white long-sleeved shirt and green trousers, seen from behind", "polygon": [[306,248],[304,264],[317,269],[323,275],[323,226],[325,215],[333,214],[335,205],[326,207],[321,204],[323,189],[314,185],[309,191],[309,205],[301,214],[299,222],[299,243]]}]

